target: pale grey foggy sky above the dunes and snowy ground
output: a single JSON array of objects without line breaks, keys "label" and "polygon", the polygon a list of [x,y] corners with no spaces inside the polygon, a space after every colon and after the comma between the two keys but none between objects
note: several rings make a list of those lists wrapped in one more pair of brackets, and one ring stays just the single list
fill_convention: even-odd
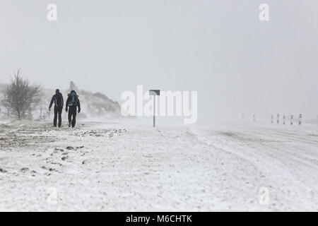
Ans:
[{"label": "pale grey foggy sky above the dunes and snowy ground", "polygon": [[[57,4],[57,21],[47,4]],[[259,5],[269,5],[269,21]],[[0,0],[0,83],[198,91],[198,117],[318,114],[318,1]]]}]

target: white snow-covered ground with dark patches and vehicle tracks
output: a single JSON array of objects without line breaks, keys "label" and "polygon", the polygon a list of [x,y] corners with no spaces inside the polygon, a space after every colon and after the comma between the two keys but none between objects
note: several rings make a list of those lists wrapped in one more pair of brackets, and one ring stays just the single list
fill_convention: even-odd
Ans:
[{"label": "white snow-covered ground with dark patches and vehicle tracks", "polygon": [[0,210],[318,210],[314,124],[51,124],[0,124]]}]

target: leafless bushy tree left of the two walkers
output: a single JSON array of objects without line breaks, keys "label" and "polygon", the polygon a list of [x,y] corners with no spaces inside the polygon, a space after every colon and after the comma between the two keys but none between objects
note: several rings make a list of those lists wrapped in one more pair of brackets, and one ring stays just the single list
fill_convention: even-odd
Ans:
[{"label": "leafless bushy tree left of the two walkers", "polygon": [[2,100],[6,109],[18,119],[31,114],[35,104],[40,102],[41,85],[30,85],[28,79],[23,78],[20,69],[13,74],[11,83],[4,88]]}]

